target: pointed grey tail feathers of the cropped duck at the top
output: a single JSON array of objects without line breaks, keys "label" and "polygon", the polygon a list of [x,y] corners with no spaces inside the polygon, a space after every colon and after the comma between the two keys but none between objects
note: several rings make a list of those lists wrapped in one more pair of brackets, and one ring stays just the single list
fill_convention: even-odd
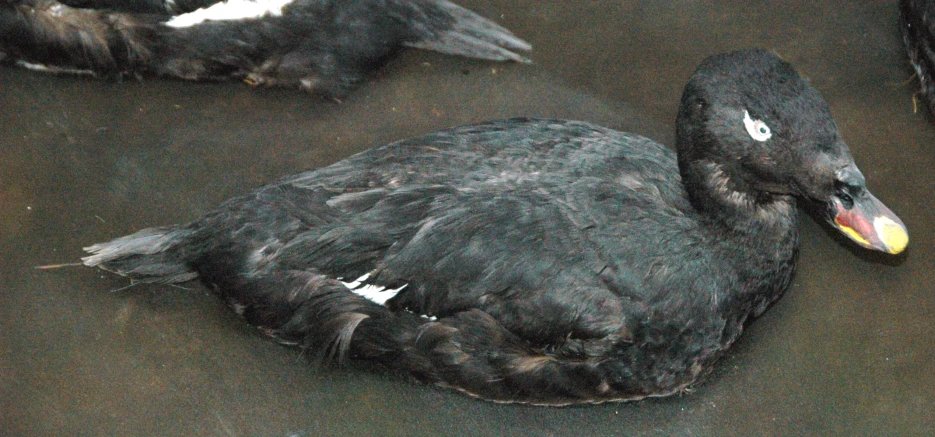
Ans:
[{"label": "pointed grey tail feathers of the cropped duck at the top", "polygon": [[[447,15],[451,20],[441,28],[413,29],[422,39],[408,42],[406,46],[492,61],[532,62],[515,52],[532,50],[532,46],[499,24],[448,1],[436,1],[433,6],[423,12],[426,17],[434,12]],[[418,23],[418,20],[413,22]]]}]

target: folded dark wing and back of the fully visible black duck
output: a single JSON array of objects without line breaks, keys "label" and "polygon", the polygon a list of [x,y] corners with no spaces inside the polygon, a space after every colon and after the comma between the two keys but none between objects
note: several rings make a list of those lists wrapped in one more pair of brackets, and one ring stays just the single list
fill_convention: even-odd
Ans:
[{"label": "folded dark wing and back of the fully visible black duck", "polygon": [[[620,254],[626,241],[647,246],[643,255],[677,245],[634,241],[627,226],[651,235],[645,226],[686,221],[670,155],[642,137],[554,120],[406,140],[222,206],[197,227],[226,241],[223,253],[205,252],[225,264],[199,270],[219,284],[272,265],[345,282],[367,275],[360,282],[405,287],[387,302],[394,311],[479,308],[530,341],[603,338],[624,328],[627,302],[646,298],[626,264],[634,257]],[[624,220],[623,209],[664,212]]]}]

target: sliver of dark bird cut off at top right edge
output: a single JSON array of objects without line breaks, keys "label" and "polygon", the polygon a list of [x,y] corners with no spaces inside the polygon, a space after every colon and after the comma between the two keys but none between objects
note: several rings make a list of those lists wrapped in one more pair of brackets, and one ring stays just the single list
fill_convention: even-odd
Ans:
[{"label": "sliver of dark bird cut off at top right edge", "polygon": [[899,30],[915,69],[922,98],[935,114],[935,2],[900,0]]}]

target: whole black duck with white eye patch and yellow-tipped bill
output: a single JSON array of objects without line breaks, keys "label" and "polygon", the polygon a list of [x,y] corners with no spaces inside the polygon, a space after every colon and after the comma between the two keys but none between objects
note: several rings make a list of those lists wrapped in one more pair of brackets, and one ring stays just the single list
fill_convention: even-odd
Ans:
[{"label": "whole black duck with white eye patch and yellow-tipped bill", "polygon": [[[445,130],[91,246],[84,262],[197,277],[280,340],[486,399],[670,395],[788,287],[797,197],[863,246],[908,242],[827,104],[776,55],[707,59],[677,124],[677,154],[576,121]],[[342,282],[364,275],[403,288],[380,305]]]}]

